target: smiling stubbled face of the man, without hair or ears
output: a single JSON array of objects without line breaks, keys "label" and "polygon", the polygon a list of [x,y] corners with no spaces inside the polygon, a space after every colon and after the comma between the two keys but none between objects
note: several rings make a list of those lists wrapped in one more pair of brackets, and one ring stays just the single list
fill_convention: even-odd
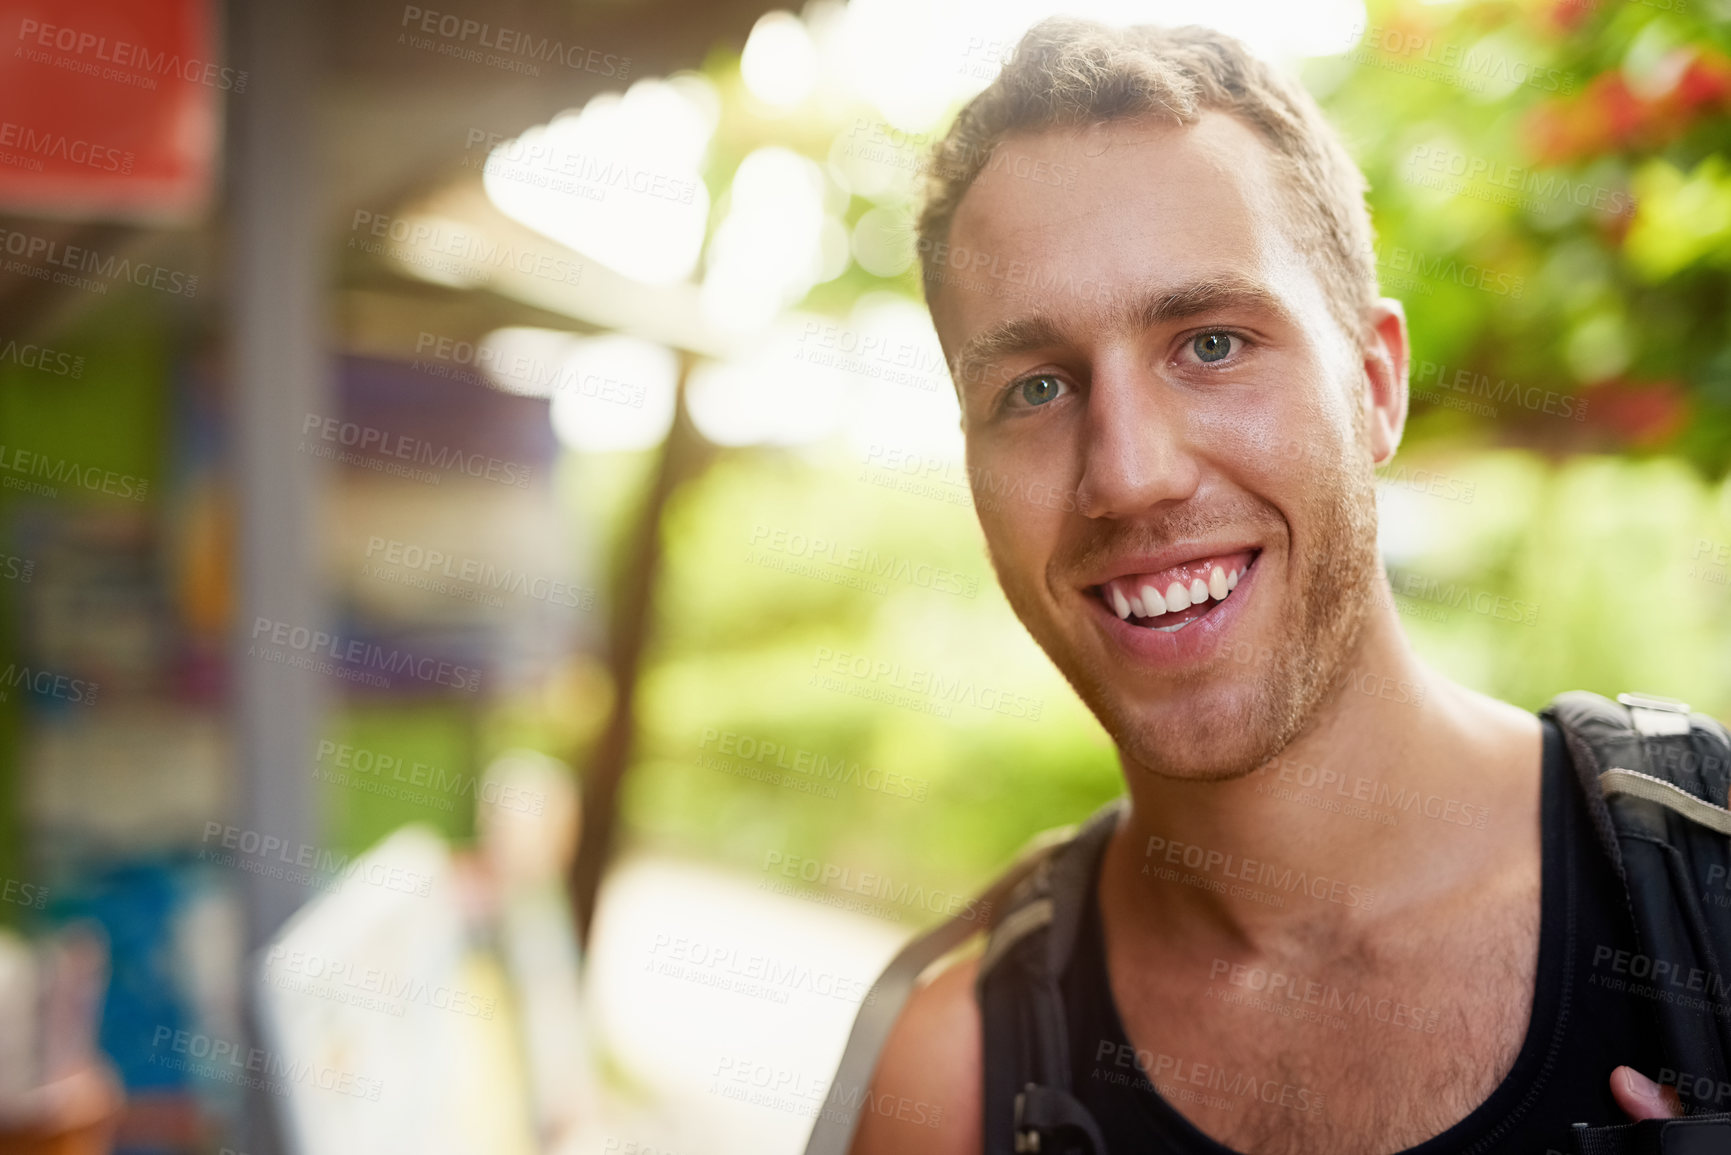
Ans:
[{"label": "smiling stubbled face of the man, without hair or ears", "polygon": [[999,582],[1132,764],[1250,772],[1376,596],[1364,353],[1239,121],[999,147],[1016,163],[962,197],[933,301]]}]

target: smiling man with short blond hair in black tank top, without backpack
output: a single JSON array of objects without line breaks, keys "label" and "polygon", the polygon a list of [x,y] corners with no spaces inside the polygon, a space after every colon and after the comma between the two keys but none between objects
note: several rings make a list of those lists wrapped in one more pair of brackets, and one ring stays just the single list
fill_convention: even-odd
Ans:
[{"label": "smiling man with short blond hair in black tank top, without backpack", "polygon": [[[912,996],[853,1150],[1544,1155],[1669,1115],[1563,736],[1400,629],[1374,469],[1406,319],[1310,97],[1213,31],[1047,21],[933,173],[919,248],[992,565],[1127,798],[1070,855],[1080,900],[1014,909]],[[1030,928],[1061,942],[1044,978]],[[1066,1089],[994,1074],[1030,1063]]]}]

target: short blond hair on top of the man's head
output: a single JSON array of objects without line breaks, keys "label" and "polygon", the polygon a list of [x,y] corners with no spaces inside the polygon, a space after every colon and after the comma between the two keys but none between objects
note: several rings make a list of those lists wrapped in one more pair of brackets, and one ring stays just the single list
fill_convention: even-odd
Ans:
[{"label": "short blond hair on top of the man's head", "polygon": [[936,298],[956,210],[1006,137],[1132,118],[1194,125],[1207,111],[1236,116],[1269,145],[1293,241],[1329,312],[1361,336],[1378,296],[1364,175],[1303,87],[1232,36],[1198,26],[1052,17],[1028,29],[935,147],[919,213],[926,300]]}]

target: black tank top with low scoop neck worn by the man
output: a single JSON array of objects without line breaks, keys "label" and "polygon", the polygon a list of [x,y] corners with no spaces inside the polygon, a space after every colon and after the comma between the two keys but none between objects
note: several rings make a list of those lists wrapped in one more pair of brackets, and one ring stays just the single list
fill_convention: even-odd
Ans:
[{"label": "black tank top with low scoop neck worn by the man", "polygon": [[[1638,947],[1622,906],[1622,883],[1593,835],[1561,734],[1549,720],[1541,774],[1539,982],[1527,1037],[1490,1098],[1442,1134],[1399,1155],[1573,1152],[1570,1124],[1627,1122],[1610,1094],[1612,1068],[1627,1063],[1658,1075],[1657,1004],[1648,994],[1625,992],[1639,982],[1629,977]],[[1097,885],[1096,871],[1063,977],[1075,1096],[1092,1112],[1113,1155],[1236,1155],[1184,1119],[1136,1061],[1096,1061],[1103,1053],[1134,1055],[1101,1046],[1103,1039],[1116,1048],[1130,1044],[1106,977]],[[1168,1086],[1175,1089],[1186,1079],[1184,1072],[1167,1072],[1174,1074],[1177,1079]],[[1207,1086],[1205,1079],[1189,1082]],[[1286,1087],[1283,1094],[1293,1100],[1288,1107],[1309,1107],[1297,1089]]]}]

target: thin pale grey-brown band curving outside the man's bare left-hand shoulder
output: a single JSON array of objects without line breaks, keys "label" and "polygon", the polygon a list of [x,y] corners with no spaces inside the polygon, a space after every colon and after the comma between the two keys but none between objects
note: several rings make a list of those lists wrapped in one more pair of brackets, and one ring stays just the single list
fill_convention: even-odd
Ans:
[{"label": "thin pale grey-brown band curving outside the man's bare left-hand shoulder", "polygon": [[[848,1153],[848,1148],[853,1146],[853,1134],[859,1131],[860,1107],[866,1105],[872,1074],[878,1070],[878,1056],[883,1053],[902,1008],[907,1006],[909,996],[914,994],[919,977],[976,933],[990,932],[1016,914],[1011,897],[1020,894],[1018,887],[1063,849],[1073,835],[1073,826],[1037,835],[1016,862],[980,892],[978,899],[949,921],[916,937],[890,959],[853,1018],[853,1030],[848,1034],[848,1044],[841,1053],[836,1075],[829,1082],[824,1105],[817,1112],[805,1155]],[[1021,914],[1023,921],[1026,918]]]}]

